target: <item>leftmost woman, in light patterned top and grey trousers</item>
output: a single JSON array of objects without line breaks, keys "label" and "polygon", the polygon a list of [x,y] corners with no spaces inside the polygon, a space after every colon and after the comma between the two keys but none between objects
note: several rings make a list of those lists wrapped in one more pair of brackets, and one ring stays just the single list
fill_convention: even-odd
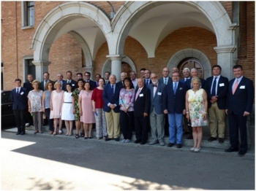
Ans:
[{"label": "leftmost woman, in light patterned top and grey trousers", "polygon": [[32,82],[32,87],[28,95],[29,112],[33,115],[34,134],[42,133],[42,90],[39,90],[39,81],[35,79]]}]

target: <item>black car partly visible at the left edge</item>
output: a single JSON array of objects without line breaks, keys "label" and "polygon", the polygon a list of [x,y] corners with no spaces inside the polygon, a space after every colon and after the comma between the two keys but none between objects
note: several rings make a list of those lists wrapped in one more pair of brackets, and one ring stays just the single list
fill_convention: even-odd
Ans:
[{"label": "black car partly visible at the left edge", "polygon": [[11,91],[1,91],[1,125],[15,124]]}]

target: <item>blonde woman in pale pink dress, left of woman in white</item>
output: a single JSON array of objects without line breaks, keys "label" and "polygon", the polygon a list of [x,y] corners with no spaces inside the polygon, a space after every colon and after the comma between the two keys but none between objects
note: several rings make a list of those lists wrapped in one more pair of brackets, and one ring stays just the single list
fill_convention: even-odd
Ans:
[{"label": "blonde woman in pale pink dress, left of woman in white", "polygon": [[56,90],[53,90],[53,92],[50,95],[50,119],[53,119],[54,124],[53,136],[55,136],[57,133],[58,120],[59,134],[62,134],[61,106],[64,94],[64,90],[61,90],[61,82],[56,82],[54,88],[56,88]]}]

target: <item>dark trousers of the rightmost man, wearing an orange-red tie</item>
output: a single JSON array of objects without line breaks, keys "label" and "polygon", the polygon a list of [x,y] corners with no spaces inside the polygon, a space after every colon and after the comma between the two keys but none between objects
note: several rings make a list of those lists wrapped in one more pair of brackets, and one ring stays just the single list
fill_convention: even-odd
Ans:
[{"label": "dark trousers of the rightmost man, wearing an orange-red tie", "polygon": [[228,114],[228,121],[230,126],[230,144],[232,147],[239,146],[238,139],[238,130],[240,130],[240,139],[242,151],[247,151],[247,129],[246,129],[246,120],[247,117],[237,115],[237,114]]}]

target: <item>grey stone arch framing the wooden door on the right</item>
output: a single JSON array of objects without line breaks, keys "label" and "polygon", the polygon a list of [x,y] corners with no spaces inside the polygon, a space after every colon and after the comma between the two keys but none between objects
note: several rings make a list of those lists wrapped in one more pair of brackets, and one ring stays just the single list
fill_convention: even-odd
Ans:
[{"label": "grey stone arch framing the wooden door on the right", "polygon": [[184,58],[197,58],[203,64],[203,71],[205,79],[211,77],[211,62],[208,57],[200,50],[187,48],[176,52],[168,61],[167,68],[171,71],[173,66],[178,66]]}]

